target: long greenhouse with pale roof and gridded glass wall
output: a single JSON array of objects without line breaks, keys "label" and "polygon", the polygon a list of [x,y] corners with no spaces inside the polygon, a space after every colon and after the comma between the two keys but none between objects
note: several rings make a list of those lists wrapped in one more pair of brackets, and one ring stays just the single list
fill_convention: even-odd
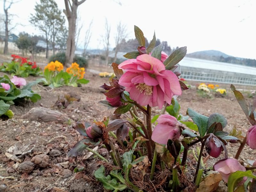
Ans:
[{"label": "long greenhouse with pale roof and gridded glass wall", "polygon": [[186,80],[256,85],[254,67],[185,57],[178,69]]}]

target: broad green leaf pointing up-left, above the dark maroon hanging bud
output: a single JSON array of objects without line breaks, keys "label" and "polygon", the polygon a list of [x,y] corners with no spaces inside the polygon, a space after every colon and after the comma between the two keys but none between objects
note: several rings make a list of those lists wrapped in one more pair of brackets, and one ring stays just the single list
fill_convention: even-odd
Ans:
[{"label": "broad green leaf pointing up-left, above the dark maroon hanging bud", "polygon": [[197,125],[200,136],[204,137],[208,126],[209,117],[201,115],[191,108],[188,108],[187,115],[190,116]]}]

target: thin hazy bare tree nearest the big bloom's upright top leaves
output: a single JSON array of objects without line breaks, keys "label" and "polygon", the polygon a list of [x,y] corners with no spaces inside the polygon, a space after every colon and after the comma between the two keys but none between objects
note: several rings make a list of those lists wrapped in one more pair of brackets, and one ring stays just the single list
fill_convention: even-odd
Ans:
[{"label": "thin hazy bare tree nearest the big bloom's upright top leaves", "polygon": [[115,48],[115,57],[114,57],[114,62],[116,62],[116,57],[117,57],[117,53],[120,50],[120,44],[121,41],[125,38],[127,38],[127,30],[126,30],[126,25],[122,24],[121,21],[119,21],[119,23],[117,24],[117,33],[115,36],[115,40],[116,40],[116,48]]}]

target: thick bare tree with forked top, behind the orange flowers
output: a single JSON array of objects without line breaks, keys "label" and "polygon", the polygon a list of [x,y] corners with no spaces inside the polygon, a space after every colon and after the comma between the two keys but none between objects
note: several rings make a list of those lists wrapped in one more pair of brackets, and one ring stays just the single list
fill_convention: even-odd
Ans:
[{"label": "thick bare tree with forked top, behind the orange flowers", "polygon": [[68,19],[68,40],[67,40],[67,50],[66,50],[66,64],[71,64],[75,56],[75,34],[76,34],[76,18],[77,18],[77,7],[84,3],[86,0],[64,0],[65,8],[63,12]]}]

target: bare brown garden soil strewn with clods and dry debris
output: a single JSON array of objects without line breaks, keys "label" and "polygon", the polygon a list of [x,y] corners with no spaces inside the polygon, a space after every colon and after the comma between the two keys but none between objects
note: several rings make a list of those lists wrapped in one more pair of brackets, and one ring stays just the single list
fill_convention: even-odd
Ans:
[{"label": "bare brown garden soil strewn with clods and dry debris", "polygon": [[[97,68],[100,70],[100,68]],[[109,70],[109,69],[107,69]],[[0,73],[0,76],[4,75]],[[26,80],[33,81],[40,77],[28,77]],[[33,90],[38,92],[42,99],[37,103],[25,102],[17,106],[12,106],[11,109],[15,113],[12,119],[0,121],[0,176],[9,179],[0,180],[0,191],[70,191],[70,192],[96,192],[104,191],[103,186],[95,180],[93,173],[99,168],[100,163],[93,157],[87,158],[87,152],[84,151],[78,157],[67,157],[68,151],[73,145],[83,137],[74,129],[75,122],[84,120],[92,123],[94,120],[102,121],[104,117],[110,119],[119,118],[114,116],[114,109],[100,105],[100,100],[105,100],[103,95],[104,90],[99,86],[107,83],[108,78],[101,78],[97,74],[86,72],[85,78],[90,80],[89,84],[82,87],[60,87],[49,89],[43,86],[34,86]],[[209,116],[214,112],[223,114],[228,125],[225,128],[230,132],[234,126],[237,130],[241,130],[243,135],[250,127],[248,120],[243,114],[242,109],[238,105],[231,90],[224,98],[213,97],[211,99],[198,97],[196,92],[196,83],[192,84],[189,90],[183,92],[182,96],[178,97],[181,109],[180,113],[186,115],[187,108],[192,108],[195,111]],[[224,86],[224,85],[223,85]],[[225,85],[227,86],[227,85]],[[55,106],[58,98],[63,98],[64,95],[75,93],[81,97],[80,101],[74,101],[67,108]],[[245,94],[246,96],[246,94]],[[246,98],[251,101],[252,99]],[[58,110],[66,114],[71,121],[67,124],[58,124],[56,122],[39,122],[25,119],[23,116],[34,107],[46,107],[53,110]],[[159,113],[158,108],[152,110],[153,114]],[[120,118],[126,118],[122,115]],[[238,144],[227,145],[229,157],[234,157],[238,149]],[[18,152],[17,152],[18,151]],[[13,153],[16,153],[19,159],[14,159]],[[104,148],[99,148],[98,152],[107,159],[110,159]],[[10,155],[11,154],[11,155]],[[47,167],[42,168],[36,165],[33,171],[22,173],[17,161],[29,161],[36,155],[49,156]],[[207,156],[206,152],[203,158]],[[224,154],[218,158],[224,158]],[[247,146],[241,154],[241,160],[244,164],[250,164],[256,159],[255,150],[251,150]],[[207,168],[211,168],[216,162],[216,159],[207,161]],[[196,164],[192,155],[188,158],[189,164]],[[82,172],[74,173],[75,168],[82,168]],[[190,170],[193,174],[195,170]],[[224,185],[225,188],[225,185]],[[4,190],[5,189],[5,190]],[[218,189],[223,191],[223,188]],[[225,190],[224,190],[225,191]]]}]

